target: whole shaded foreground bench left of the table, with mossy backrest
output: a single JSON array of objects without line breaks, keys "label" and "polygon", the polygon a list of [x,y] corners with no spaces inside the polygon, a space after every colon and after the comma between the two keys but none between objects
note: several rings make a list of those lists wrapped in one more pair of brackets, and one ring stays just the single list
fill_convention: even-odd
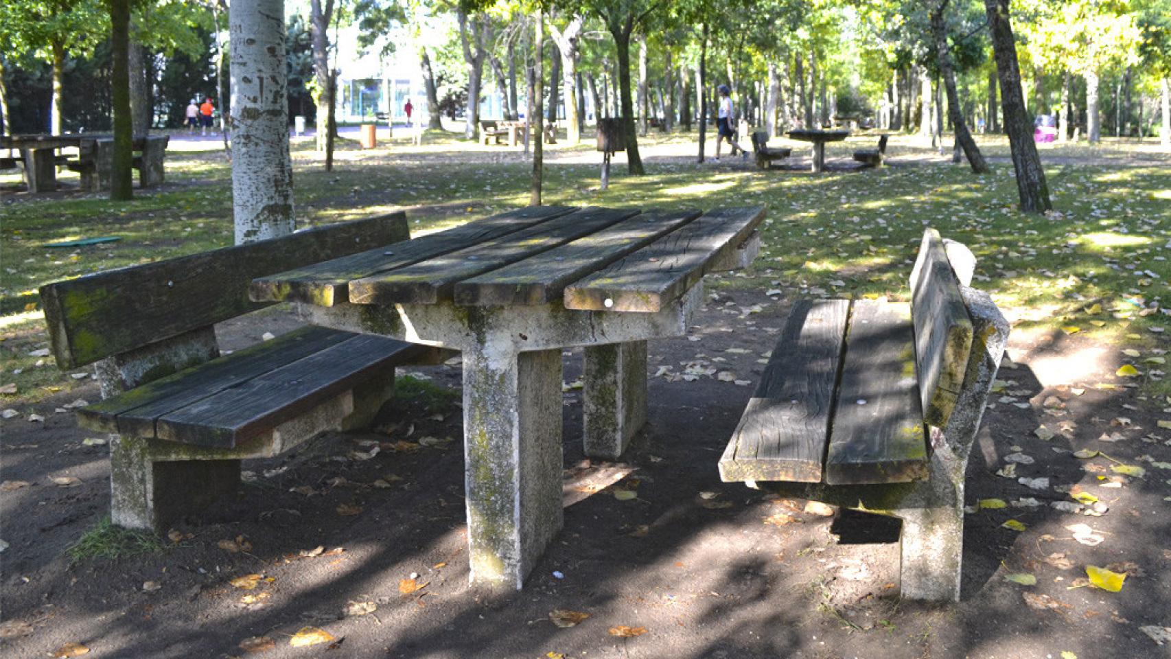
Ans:
[{"label": "whole shaded foreground bench left of the table, with mossy backrest", "polygon": [[302,328],[220,355],[214,323],[271,303],[248,286],[269,275],[409,238],[395,213],[41,288],[62,369],[96,363],[100,403],[77,411],[110,441],[114,523],[165,530],[231,493],[240,460],[285,452],[372,419],[395,366],[433,349]]}]

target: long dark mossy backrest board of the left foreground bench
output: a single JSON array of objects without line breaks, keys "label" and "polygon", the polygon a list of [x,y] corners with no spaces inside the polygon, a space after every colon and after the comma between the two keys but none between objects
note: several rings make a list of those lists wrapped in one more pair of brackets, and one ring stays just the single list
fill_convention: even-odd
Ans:
[{"label": "long dark mossy backrest board of the left foreground bench", "polygon": [[144,348],[254,311],[253,279],[408,240],[404,213],[310,228],[41,287],[62,369]]}]

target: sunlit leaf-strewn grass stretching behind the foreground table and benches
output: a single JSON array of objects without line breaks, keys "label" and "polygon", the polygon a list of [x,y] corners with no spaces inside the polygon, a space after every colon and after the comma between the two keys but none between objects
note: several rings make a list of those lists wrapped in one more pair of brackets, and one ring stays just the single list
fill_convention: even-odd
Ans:
[{"label": "sunlit leaf-strewn grass stretching behind the foreground table and benches", "polygon": [[[874,137],[831,143],[828,155],[849,160],[854,149],[871,142]],[[804,143],[789,145],[796,153],[808,150]],[[989,156],[1007,156],[1002,138],[982,145]],[[518,150],[436,135],[420,147],[405,140],[369,152],[349,142],[342,146],[335,171],[324,172],[308,139],[294,144],[299,226],[405,207],[418,234],[528,202],[530,165]],[[1171,325],[1163,309],[1171,279],[1171,155],[1151,140],[1043,145],[1057,210],[1048,215],[1015,210],[1015,181],[1006,162],[975,177],[911,137],[891,140],[895,164],[931,162],[826,176],[758,171],[738,159],[698,165],[694,133],[652,135],[641,146],[648,176],[625,176],[619,155],[607,191],[597,190],[601,158],[590,144],[550,147],[543,201],[765,205],[768,219],[756,263],[713,286],[780,288],[789,297],[906,298],[910,260],[923,227],[931,225],[972,248],[980,261],[977,286],[1011,310],[1016,327],[1077,332],[1119,351],[1138,350],[1141,357],[1119,359],[1135,363],[1149,392],[1171,393],[1167,380],[1158,377],[1160,366],[1144,362],[1151,349],[1167,346],[1167,334],[1156,330]],[[167,181],[176,185],[165,192],[130,202],[66,197],[0,208],[0,384],[19,387],[6,398],[32,400],[77,382],[57,372],[50,358],[28,355],[47,345],[36,287],[228,245],[230,173],[217,151],[177,151],[167,158]],[[0,185],[6,183],[11,174],[0,176]],[[122,240],[74,250],[42,247],[94,235]],[[36,366],[39,359],[48,362]]]}]

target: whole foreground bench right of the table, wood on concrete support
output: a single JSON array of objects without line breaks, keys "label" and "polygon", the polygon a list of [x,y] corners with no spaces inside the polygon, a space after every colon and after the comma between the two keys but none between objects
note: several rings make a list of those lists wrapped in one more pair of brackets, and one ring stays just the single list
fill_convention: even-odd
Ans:
[{"label": "whole foreground bench right of the table, wood on concrete support", "polygon": [[974,267],[929,228],[910,304],[797,302],[719,464],[724,481],[902,519],[912,599],[959,599],[964,471],[1008,338]]}]

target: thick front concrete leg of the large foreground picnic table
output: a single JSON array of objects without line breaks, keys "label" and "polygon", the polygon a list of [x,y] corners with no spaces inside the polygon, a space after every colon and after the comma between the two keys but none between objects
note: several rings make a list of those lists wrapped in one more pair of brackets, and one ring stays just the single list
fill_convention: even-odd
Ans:
[{"label": "thick front concrete leg of the large foreground picnic table", "polygon": [[561,350],[464,351],[471,583],[519,590],[562,526]]}]

